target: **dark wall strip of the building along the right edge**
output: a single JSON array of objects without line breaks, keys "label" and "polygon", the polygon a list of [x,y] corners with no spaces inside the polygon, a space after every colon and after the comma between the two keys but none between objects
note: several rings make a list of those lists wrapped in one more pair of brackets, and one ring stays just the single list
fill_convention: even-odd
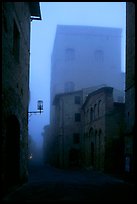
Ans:
[{"label": "dark wall strip of the building along the right edge", "polygon": [[125,172],[135,176],[135,4],[126,2]]}]

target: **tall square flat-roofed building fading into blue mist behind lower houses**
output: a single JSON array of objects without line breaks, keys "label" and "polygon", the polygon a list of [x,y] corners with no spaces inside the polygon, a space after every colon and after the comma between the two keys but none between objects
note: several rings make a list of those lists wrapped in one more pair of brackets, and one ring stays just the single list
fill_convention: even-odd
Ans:
[{"label": "tall square flat-roofed building fading into blue mist behind lower houses", "polygon": [[51,145],[55,137],[55,95],[100,84],[124,90],[125,76],[121,70],[121,29],[57,26],[51,57]]}]

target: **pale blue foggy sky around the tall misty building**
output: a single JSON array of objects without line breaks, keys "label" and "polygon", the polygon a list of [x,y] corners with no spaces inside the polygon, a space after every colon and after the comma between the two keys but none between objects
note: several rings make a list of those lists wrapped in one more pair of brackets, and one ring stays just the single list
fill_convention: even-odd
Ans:
[{"label": "pale blue foggy sky around the tall misty building", "polygon": [[122,29],[121,68],[125,71],[126,2],[40,2],[42,21],[31,23],[29,137],[33,161],[42,160],[43,128],[50,121],[51,54],[57,25],[86,25]]}]

